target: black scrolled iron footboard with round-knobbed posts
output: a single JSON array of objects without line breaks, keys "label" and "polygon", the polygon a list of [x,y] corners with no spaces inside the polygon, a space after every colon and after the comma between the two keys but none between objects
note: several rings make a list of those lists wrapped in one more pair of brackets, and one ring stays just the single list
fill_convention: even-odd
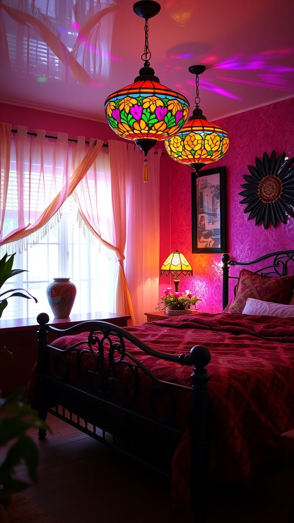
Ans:
[{"label": "black scrolled iron footboard with round-knobbed posts", "polygon": [[[191,494],[197,492],[208,465],[207,347],[194,346],[190,354],[178,356],[154,350],[126,329],[106,322],[87,321],[61,331],[48,325],[46,313],[39,314],[37,321],[40,328],[36,401],[40,417],[46,419],[50,412],[168,475],[172,473],[175,450],[189,429]],[[61,349],[49,345],[49,332],[60,337],[81,332],[87,336],[82,342]],[[135,356],[131,346],[137,351]],[[144,365],[138,351],[168,365],[190,367],[190,388],[159,379]],[[73,360],[71,367],[66,358]],[[88,360],[94,365],[84,369]],[[69,378],[73,365],[78,384]],[[186,397],[190,418],[183,425],[179,423],[178,411]],[[40,430],[39,438],[45,437]],[[155,462],[150,456],[155,457]]]}]

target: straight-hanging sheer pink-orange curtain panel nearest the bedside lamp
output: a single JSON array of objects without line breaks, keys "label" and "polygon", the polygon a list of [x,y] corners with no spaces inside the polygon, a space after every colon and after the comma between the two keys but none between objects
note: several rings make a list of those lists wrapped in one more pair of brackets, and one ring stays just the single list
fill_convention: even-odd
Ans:
[{"label": "straight-hanging sheer pink-orange curtain panel nearest the bedside lamp", "polygon": [[144,183],[143,153],[136,145],[127,145],[125,270],[137,323],[146,321],[144,312],[154,311],[158,304],[161,154],[161,149],[149,151],[148,183]]}]

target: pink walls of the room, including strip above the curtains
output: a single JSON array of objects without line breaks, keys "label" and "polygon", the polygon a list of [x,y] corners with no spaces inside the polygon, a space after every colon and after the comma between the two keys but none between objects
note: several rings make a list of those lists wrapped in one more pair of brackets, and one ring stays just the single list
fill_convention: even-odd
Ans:
[{"label": "pink walls of the room, including strip above the curtains", "polygon": [[[114,139],[115,134],[106,123],[84,120],[58,113],[0,103],[0,120],[25,125],[29,131],[46,129],[47,132],[67,132],[71,138],[77,135],[101,140]],[[230,147],[220,162],[209,167],[227,168],[227,252],[232,258],[250,260],[267,252],[294,248],[294,220],[287,224],[272,225],[265,231],[262,224],[255,225],[244,214],[238,192],[242,190],[243,174],[247,165],[255,165],[255,157],[273,150],[277,155],[294,156],[294,98],[276,104],[259,107],[219,120],[227,129]],[[159,144],[164,149],[162,143]],[[160,266],[174,250],[182,251],[193,267],[192,278],[180,278],[179,290],[189,289],[202,298],[198,309],[203,312],[221,311],[221,255],[191,254],[191,174],[190,168],[171,160],[167,153],[161,161],[161,244]],[[173,287],[173,279],[163,276],[159,280],[159,296],[166,287]],[[154,304],[155,309],[156,304]]]}]

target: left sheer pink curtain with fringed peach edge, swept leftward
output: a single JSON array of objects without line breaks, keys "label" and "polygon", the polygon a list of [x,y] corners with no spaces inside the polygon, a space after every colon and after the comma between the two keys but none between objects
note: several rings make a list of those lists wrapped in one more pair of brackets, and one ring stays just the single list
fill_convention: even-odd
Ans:
[{"label": "left sheer pink curtain with fringed peach edge, swept leftward", "polygon": [[[18,126],[17,133],[10,136],[12,147],[8,185],[5,170],[1,173],[0,187],[5,188],[1,197],[1,217],[2,224],[6,217],[9,218],[11,209],[5,203],[7,194],[10,194],[18,202],[17,220],[13,229],[10,227],[5,233],[1,230],[0,246],[13,243],[13,247],[18,245],[21,251],[25,247],[24,238],[33,233],[37,241],[37,235],[46,231],[49,220],[59,219],[58,211],[62,203],[72,194],[103,145],[101,140],[92,141],[71,176],[67,134],[58,133],[57,140],[48,140],[45,134],[45,131],[37,130],[37,136],[31,136],[27,134],[26,127]],[[71,147],[74,149],[75,145]],[[1,162],[7,165],[9,152],[7,148],[5,151],[6,158],[2,158]]]}]

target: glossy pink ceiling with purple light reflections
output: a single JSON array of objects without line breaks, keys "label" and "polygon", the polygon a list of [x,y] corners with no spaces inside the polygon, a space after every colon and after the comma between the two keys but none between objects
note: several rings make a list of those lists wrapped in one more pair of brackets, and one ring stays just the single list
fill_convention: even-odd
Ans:
[{"label": "glossy pink ceiling with purple light reflections", "polygon": [[[73,6],[74,4],[74,6]],[[0,0],[0,100],[106,122],[143,65],[133,0]],[[160,82],[211,121],[294,96],[293,0],[162,0],[149,20]],[[270,123],[270,122],[269,122]]]}]

